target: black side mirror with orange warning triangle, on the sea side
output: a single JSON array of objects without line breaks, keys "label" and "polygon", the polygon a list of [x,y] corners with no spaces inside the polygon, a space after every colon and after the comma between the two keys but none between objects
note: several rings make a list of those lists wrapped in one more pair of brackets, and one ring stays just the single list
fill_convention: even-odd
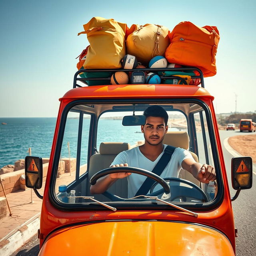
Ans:
[{"label": "black side mirror with orange warning triangle, on the sea side", "polygon": [[28,188],[40,189],[43,183],[43,161],[37,156],[25,158],[25,181]]}]

